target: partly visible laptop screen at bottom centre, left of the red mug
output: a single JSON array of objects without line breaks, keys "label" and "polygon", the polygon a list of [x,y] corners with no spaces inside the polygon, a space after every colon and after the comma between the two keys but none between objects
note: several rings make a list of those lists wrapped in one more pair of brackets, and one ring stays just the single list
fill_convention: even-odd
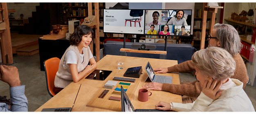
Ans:
[{"label": "partly visible laptop screen at bottom centre, left of the red mug", "polygon": [[126,92],[124,91],[123,86],[121,86],[121,103],[122,103],[122,112],[135,112],[135,109],[132,106]]}]

